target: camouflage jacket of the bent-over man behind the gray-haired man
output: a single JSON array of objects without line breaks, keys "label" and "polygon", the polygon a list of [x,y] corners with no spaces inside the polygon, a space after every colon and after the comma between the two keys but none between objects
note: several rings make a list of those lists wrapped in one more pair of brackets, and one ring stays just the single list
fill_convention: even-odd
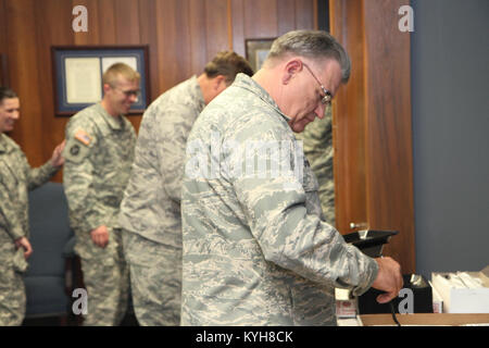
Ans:
[{"label": "camouflage jacket of the bent-over man behind the gray-haired man", "polygon": [[154,100],[142,115],[121,226],[181,249],[180,191],[185,145],[205,107],[197,77]]}]

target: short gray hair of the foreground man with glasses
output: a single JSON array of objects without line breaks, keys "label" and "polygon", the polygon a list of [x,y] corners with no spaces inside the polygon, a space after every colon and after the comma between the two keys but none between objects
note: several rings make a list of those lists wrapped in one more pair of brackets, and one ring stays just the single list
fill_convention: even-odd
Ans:
[{"label": "short gray hair of the foreground man with glasses", "polygon": [[347,51],[326,32],[293,30],[284,34],[272,44],[266,61],[281,59],[290,53],[312,60],[334,59],[341,66],[341,82],[346,84],[350,78],[351,62]]}]

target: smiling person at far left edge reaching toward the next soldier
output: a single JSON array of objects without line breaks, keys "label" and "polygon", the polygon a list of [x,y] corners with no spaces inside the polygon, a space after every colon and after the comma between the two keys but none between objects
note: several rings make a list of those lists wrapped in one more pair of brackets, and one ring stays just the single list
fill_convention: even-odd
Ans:
[{"label": "smiling person at far left edge reaching toward the next soldier", "polygon": [[48,182],[63,164],[62,142],[52,158],[32,169],[18,145],[4,132],[20,117],[14,91],[0,87],[0,326],[21,325],[25,315],[23,273],[33,252],[28,240],[28,190]]}]

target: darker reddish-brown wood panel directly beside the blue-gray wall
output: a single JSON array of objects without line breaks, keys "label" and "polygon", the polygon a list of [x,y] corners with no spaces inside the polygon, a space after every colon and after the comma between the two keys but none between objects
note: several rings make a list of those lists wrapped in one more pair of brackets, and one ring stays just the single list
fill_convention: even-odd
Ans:
[{"label": "darker reddish-brown wood panel directly beside the blue-gray wall", "polygon": [[415,271],[410,34],[398,28],[405,0],[364,2],[367,214],[373,228],[396,228],[386,253]]}]

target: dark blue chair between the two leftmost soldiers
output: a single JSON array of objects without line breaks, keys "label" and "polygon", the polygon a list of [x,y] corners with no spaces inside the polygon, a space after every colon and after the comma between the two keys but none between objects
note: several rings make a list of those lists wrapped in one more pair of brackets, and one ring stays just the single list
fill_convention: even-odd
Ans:
[{"label": "dark blue chair between the two leftmost soldiers", "polygon": [[67,324],[72,275],[66,277],[66,271],[71,271],[66,265],[71,263],[74,238],[67,213],[62,184],[47,183],[29,194],[29,240],[34,252],[24,277],[26,321],[42,318],[54,319],[53,325]]}]

